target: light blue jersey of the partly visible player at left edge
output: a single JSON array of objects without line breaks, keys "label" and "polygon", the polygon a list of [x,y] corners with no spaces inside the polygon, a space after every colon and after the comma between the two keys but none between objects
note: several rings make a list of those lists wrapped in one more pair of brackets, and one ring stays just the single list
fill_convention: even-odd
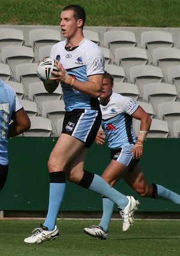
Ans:
[{"label": "light blue jersey of the partly visible player at left edge", "polygon": [[13,112],[22,108],[14,90],[0,80],[0,164],[8,164],[8,126]]}]

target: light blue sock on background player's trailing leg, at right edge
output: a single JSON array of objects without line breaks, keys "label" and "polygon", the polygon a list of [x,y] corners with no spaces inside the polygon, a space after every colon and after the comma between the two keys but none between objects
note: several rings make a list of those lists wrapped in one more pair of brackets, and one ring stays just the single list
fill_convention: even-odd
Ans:
[{"label": "light blue sock on background player's trailing leg, at right edge", "polygon": [[164,199],[180,205],[180,196],[166,187],[157,185],[157,199]]}]

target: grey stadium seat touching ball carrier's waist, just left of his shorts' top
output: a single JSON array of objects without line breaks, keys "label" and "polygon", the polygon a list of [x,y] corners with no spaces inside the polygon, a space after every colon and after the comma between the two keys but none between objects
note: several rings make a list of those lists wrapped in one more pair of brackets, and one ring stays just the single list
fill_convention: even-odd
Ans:
[{"label": "grey stadium seat touching ball carrier's waist, just left of his shorts' top", "polygon": [[63,119],[65,114],[65,105],[64,101],[52,100],[45,101],[42,104],[42,116],[47,117],[51,120],[53,133],[55,136],[58,136],[58,119]]}]

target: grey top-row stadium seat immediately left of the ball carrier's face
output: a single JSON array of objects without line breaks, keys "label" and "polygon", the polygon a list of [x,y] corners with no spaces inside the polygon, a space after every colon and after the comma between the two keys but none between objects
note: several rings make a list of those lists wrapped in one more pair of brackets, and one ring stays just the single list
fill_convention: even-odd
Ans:
[{"label": "grey top-row stadium seat immediately left of the ball carrier's face", "polygon": [[39,48],[44,45],[55,45],[62,40],[58,30],[51,28],[38,28],[29,31],[29,45],[32,47],[35,55],[35,62],[39,60]]}]

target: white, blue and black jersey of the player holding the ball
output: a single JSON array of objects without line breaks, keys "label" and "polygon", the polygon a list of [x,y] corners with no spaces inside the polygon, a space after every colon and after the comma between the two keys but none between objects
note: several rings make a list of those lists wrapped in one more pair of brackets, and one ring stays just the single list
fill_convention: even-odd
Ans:
[{"label": "white, blue and black jersey of the player holding the ball", "polygon": [[[68,75],[79,81],[88,81],[88,76],[104,73],[104,55],[98,46],[88,39],[83,39],[80,45],[73,51],[67,51],[65,45],[67,41],[62,41],[53,45],[50,51],[50,58],[60,60]],[[71,86],[61,83],[65,110],[71,111],[74,108],[98,110],[98,99],[85,95]]]}]

